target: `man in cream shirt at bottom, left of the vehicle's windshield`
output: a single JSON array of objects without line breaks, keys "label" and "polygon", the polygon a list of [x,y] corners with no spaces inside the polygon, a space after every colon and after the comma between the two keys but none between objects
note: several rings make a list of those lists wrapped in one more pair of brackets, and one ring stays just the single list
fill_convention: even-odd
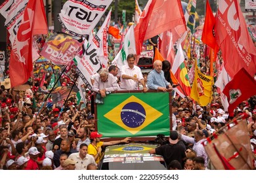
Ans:
[{"label": "man in cream shirt at bottom, left of the vehicle's windshield", "polygon": [[79,152],[70,154],[68,158],[74,159],[76,161],[75,169],[76,170],[86,170],[87,165],[95,163],[95,158],[91,156],[90,154],[87,154],[88,146],[87,144],[81,144],[79,146]]}]

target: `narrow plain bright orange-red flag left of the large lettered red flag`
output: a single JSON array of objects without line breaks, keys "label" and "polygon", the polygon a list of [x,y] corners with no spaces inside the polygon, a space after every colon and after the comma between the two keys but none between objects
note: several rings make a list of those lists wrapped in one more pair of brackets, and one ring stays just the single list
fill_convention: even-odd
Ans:
[{"label": "narrow plain bright orange-red flag left of the large lettered red flag", "polygon": [[215,46],[217,46],[215,35],[213,33],[215,24],[216,24],[216,20],[213,16],[213,12],[211,11],[211,6],[209,4],[209,1],[207,0],[205,22],[203,25],[203,33],[202,33],[202,41],[213,49],[215,48]]}]

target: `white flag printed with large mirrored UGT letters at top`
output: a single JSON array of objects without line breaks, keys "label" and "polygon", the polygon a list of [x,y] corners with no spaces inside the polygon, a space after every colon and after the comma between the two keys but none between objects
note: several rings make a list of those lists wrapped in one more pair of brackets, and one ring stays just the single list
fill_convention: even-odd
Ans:
[{"label": "white flag printed with large mirrored UGT letters at top", "polygon": [[72,35],[89,35],[111,2],[112,0],[67,1],[58,14],[58,20]]}]

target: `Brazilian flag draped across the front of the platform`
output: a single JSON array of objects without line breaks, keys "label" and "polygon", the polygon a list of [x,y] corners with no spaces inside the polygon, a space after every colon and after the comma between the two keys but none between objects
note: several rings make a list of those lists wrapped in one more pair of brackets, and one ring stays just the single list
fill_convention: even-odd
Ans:
[{"label": "Brazilian flag draped across the front of the platform", "polygon": [[169,93],[111,93],[97,105],[103,137],[169,135]]}]

